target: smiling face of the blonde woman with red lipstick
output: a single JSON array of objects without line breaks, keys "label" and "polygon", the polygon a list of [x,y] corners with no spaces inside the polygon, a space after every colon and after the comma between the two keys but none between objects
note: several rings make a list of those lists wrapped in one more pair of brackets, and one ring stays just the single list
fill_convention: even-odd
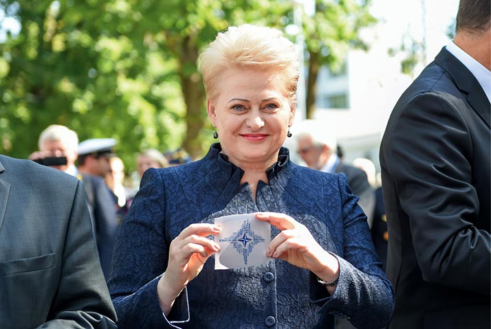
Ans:
[{"label": "smiling face of the blonde woman with red lipstick", "polygon": [[208,100],[222,152],[236,166],[268,168],[278,158],[295,105],[271,71],[232,69],[221,74],[219,93]]}]

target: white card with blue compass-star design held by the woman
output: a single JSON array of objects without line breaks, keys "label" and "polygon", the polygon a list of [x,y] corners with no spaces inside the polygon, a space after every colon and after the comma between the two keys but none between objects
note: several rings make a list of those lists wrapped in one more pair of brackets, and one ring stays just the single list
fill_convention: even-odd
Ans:
[{"label": "white card with blue compass-star design held by the woman", "polygon": [[271,242],[271,225],[254,214],[215,218],[221,232],[215,236],[220,251],[215,253],[215,269],[240,269],[265,264]]}]

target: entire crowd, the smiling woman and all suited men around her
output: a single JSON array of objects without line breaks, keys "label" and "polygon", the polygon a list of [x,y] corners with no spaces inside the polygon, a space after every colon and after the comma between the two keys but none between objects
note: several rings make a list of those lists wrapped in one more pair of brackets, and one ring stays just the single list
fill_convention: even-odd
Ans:
[{"label": "entire crowd, the smiling woman and all suited men around her", "polygon": [[[460,1],[395,105],[381,186],[336,136],[290,131],[300,63],[279,30],[229,27],[199,63],[202,159],[142,150],[128,184],[115,139],[57,124],[30,160],[0,155],[1,328],[490,326],[489,1]],[[264,264],[216,269],[215,218],[234,214],[270,227]],[[244,259],[263,239],[234,234]]]}]

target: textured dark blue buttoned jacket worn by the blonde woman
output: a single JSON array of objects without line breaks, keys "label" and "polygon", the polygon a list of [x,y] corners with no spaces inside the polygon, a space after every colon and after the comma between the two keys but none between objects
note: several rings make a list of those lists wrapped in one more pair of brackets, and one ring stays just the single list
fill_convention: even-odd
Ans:
[{"label": "textured dark blue buttoned jacket worn by the blonde woman", "polygon": [[[393,289],[380,269],[366,216],[344,174],[292,163],[286,148],[259,182],[254,201],[219,144],[182,166],[149,169],[113,255],[109,291],[119,328],[334,328],[346,317],[358,328],[381,328],[393,311]],[[212,256],[164,317],[157,282],[171,241],[191,223],[250,212],[281,212],[303,223],[340,262],[334,295],[315,275],[283,260],[248,269],[214,269]],[[279,230],[272,227],[272,237]]]}]

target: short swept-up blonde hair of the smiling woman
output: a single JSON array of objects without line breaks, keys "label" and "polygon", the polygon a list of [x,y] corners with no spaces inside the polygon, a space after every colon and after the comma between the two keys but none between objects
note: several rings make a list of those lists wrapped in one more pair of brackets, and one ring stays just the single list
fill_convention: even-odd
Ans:
[{"label": "short swept-up blonde hair of the smiling woman", "polygon": [[298,54],[279,30],[249,24],[228,27],[201,53],[199,62],[208,99],[217,97],[223,71],[257,69],[279,73],[290,98],[296,100]]}]

